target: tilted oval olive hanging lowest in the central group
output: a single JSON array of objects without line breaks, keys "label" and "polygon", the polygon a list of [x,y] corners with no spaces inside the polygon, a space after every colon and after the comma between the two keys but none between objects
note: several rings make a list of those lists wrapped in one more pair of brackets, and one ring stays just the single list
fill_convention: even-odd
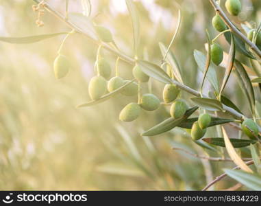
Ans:
[{"label": "tilted oval olive hanging lowest in the central group", "polygon": [[127,104],[119,115],[119,119],[123,122],[132,122],[134,119],[137,119],[140,115],[140,105],[137,103]]}]

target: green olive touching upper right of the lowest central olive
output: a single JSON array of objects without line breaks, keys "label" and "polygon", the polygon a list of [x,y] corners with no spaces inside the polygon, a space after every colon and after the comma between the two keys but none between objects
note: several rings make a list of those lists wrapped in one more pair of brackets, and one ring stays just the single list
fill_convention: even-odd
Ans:
[{"label": "green olive touching upper right of the lowest central olive", "polygon": [[152,93],[142,95],[140,106],[147,111],[154,111],[160,106],[160,100]]}]

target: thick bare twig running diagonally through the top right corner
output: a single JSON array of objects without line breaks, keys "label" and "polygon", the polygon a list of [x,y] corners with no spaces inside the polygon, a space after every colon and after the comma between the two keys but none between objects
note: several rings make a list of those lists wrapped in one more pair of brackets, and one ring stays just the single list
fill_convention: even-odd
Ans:
[{"label": "thick bare twig running diagonally through the top right corner", "polygon": [[260,49],[258,49],[258,47],[253,44],[248,38],[247,36],[245,36],[244,34],[242,34],[240,32],[240,30],[238,30],[238,28],[229,20],[229,18],[227,17],[227,15],[225,14],[225,12],[223,12],[223,10],[221,9],[221,7],[216,3],[216,0],[210,0],[210,3],[213,5],[214,9],[216,10],[216,13],[219,14],[219,16],[221,16],[221,18],[223,19],[223,21],[225,22],[225,24],[229,27],[229,29],[236,34],[236,36],[238,36],[239,38],[241,38],[245,43],[247,43],[247,45],[249,45],[249,47],[253,50],[253,52],[256,53],[256,55],[258,55],[259,58],[261,58],[261,51]]}]

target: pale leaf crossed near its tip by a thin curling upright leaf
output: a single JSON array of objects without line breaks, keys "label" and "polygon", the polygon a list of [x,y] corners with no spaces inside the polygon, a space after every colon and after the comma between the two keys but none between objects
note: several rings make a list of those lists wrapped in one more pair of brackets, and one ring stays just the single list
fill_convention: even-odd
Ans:
[{"label": "pale leaf crossed near its tip by a thin curling upright leaf", "polygon": [[[162,56],[166,54],[166,46],[163,43],[159,43],[160,46],[160,52]],[[173,69],[173,73],[175,78],[177,79],[178,82],[182,82],[182,69],[179,67],[179,62],[177,62],[177,58],[173,54],[173,52],[169,51],[166,55],[166,61],[171,65]]]}]

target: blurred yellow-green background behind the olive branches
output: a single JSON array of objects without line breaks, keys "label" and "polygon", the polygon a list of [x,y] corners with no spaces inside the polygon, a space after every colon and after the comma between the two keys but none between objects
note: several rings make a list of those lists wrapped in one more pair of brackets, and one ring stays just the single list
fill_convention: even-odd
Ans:
[{"label": "blurred yellow-green background behind the olive branches", "polygon": [[[47,2],[64,13],[64,0]],[[125,1],[91,2],[95,23],[108,27],[121,50],[133,56],[132,23]],[[158,43],[167,45],[171,41],[177,26],[177,6],[171,0],[135,2],[141,24],[140,57],[145,53],[149,60],[160,64]],[[201,74],[193,50],[204,52],[206,28],[212,37],[216,35],[211,26],[214,10],[206,0],[176,2],[181,5],[183,19],[172,51],[182,67],[185,84],[197,89]],[[242,14],[233,20],[259,23],[260,1],[242,3]],[[71,31],[48,12],[42,17],[45,26],[37,27],[33,4],[34,1],[0,0],[0,36]],[[69,12],[82,12],[81,1],[71,0]],[[26,45],[0,42],[1,190],[201,190],[223,168],[234,167],[234,163],[210,163],[172,150],[175,146],[206,155],[180,128],[156,137],[140,137],[142,130],[169,117],[167,106],[154,113],[143,112],[132,123],[120,122],[118,115],[125,104],[136,98],[118,95],[90,108],[76,108],[90,100],[88,82],[95,75],[97,45],[80,34],[70,36],[62,53],[73,62],[73,68],[66,78],[55,80],[53,60],[63,38]],[[228,49],[223,38],[220,43]],[[103,54],[114,68],[116,57],[106,51]],[[119,71],[124,78],[132,79],[132,68],[125,62],[120,62]],[[142,87],[147,89],[147,85]],[[163,87],[152,81],[152,91],[159,98]],[[233,83],[229,88],[226,95],[249,113],[238,85]],[[190,95],[182,93],[182,97],[188,99]],[[229,132],[237,133],[233,128]],[[249,154],[248,150],[245,152]],[[217,153],[210,154],[219,157]],[[227,178],[212,190],[235,184]]]}]

